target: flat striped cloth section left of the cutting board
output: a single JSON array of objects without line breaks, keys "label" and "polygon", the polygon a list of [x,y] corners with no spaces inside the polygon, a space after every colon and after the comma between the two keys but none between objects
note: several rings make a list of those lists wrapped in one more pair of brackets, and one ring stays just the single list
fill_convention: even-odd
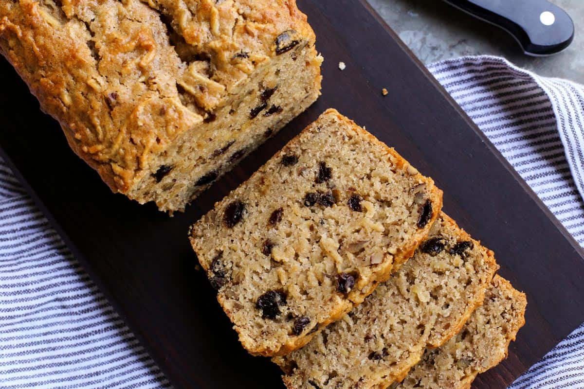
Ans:
[{"label": "flat striped cloth section left of the cutting board", "polygon": [[0,162],[0,388],[169,386]]}]

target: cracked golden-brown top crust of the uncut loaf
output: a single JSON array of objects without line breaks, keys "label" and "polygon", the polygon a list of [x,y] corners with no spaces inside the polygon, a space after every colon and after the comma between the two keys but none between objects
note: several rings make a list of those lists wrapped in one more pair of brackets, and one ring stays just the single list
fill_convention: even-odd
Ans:
[{"label": "cracked golden-brown top crust of the uncut loaf", "polygon": [[294,0],[0,0],[0,50],[114,191],[270,58],[314,33]]}]

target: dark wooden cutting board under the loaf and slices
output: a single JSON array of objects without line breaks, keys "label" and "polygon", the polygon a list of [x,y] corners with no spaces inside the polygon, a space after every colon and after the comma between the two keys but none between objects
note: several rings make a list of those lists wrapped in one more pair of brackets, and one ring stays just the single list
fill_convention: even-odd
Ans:
[{"label": "dark wooden cutting board under the loaf and slices", "polygon": [[527,293],[527,324],[509,358],[475,381],[506,387],[584,321],[582,250],[365,2],[298,5],[325,58],[322,96],[185,213],[169,218],[112,194],[4,60],[2,155],[176,387],[279,388],[277,367],[244,352],[195,270],[187,228],[325,108],[338,108],[432,176],[447,213]]}]

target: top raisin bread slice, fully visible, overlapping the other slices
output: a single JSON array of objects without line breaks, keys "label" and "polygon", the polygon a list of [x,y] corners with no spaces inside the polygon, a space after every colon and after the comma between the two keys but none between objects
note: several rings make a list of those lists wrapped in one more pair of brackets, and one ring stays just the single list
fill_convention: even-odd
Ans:
[{"label": "top raisin bread slice, fully visible, overlapping the other slices", "polygon": [[432,180],[328,110],[215,204],[190,240],[242,345],[281,355],[411,257],[441,207]]}]

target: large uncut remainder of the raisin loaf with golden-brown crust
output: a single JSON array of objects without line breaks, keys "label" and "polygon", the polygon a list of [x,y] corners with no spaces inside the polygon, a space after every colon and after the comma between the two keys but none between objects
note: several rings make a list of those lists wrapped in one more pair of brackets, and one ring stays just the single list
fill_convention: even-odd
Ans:
[{"label": "large uncut remainder of the raisin loaf with golden-brown crust", "polygon": [[294,0],[0,0],[0,51],[114,192],[182,210],[315,101]]}]

